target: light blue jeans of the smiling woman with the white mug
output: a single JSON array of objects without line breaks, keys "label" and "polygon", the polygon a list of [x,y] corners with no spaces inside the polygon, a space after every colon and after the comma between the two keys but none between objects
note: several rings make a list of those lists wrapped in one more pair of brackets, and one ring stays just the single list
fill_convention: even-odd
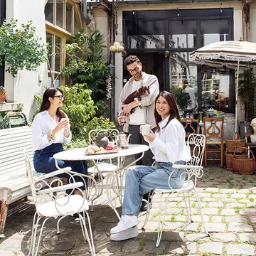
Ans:
[{"label": "light blue jeans of the smiling woman with the white mug", "polygon": [[[184,161],[177,161],[175,164],[184,164]],[[174,169],[171,163],[159,162],[154,166],[129,167],[125,175],[122,215],[137,216],[145,193],[155,188],[169,188],[168,180],[172,171],[174,174],[171,175],[171,188],[180,188],[185,178],[184,170]]]}]

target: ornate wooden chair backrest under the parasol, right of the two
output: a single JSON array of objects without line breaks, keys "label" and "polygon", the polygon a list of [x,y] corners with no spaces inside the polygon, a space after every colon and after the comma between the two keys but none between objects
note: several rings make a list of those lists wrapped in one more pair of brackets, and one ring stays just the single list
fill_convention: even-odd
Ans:
[{"label": "ornate wooden chair backrest under the parasol, right of the two", "polygon": [[223,119],[218,117],[203,119],[203,132],[206,140],[223,141]]}]

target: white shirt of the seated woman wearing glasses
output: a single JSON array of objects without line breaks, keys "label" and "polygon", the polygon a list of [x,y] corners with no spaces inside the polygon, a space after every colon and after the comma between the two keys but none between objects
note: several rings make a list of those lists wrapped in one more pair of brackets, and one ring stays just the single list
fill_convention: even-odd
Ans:
[{"label": "white shirt of the seated woman wearing glasses", "polygon": [[31,124],[33,150],[44,149],[46,146],[50,146],[53,143],[68,144],[71,141],[71,132],[69,137],[65,137],[64,129],[61,129],[55,134],[55,139],[48,141],[47,134],[55,129],[58,122],[55,122],[48,111],[43,111],[36,114]]}]

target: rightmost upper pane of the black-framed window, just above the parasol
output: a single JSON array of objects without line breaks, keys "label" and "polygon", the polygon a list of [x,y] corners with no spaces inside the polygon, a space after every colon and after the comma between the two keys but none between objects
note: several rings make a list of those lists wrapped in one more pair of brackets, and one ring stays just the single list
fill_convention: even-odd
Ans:
[{"label": "rightmost upper pane of the black-framed window, just above the parasol", "polygon": [[201,43],[207,46],[209,43],[228,41],[228,20],[201,21]]}]

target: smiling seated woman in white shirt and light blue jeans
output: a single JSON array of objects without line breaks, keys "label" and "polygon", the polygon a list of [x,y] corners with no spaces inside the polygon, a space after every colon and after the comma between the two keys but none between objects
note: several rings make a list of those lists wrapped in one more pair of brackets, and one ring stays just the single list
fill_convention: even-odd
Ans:
[{"label": "smiling seated woman in white shirt and light blue jeans", "polygon": [[[169,188],[168,180],[175,169],[173,164],[184,164],[191,154],[185,141],[185,131],[181,124],[174,95],[160,92],[156,97],[154,117],[156,133],[144,136],[154,154],[154,166],[132,166],[125,176],[122,217],[117,226],[110,230],[114,241],[134,238],[138,233],[139,207],[142,196],[154,188]],[[171,175],[171,187],[180,188],[184,178],[183,169],[176,169]]]}]

